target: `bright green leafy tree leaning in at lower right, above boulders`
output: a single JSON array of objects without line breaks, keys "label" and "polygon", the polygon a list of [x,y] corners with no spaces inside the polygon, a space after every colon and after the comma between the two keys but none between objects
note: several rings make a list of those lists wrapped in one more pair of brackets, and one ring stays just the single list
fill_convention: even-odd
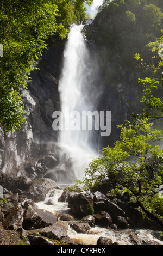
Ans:
[{"label": "bright green leafy tree leaning in at lower right, above boulders", "polygon": [[83,181],[70,188],[83,190],[112,184],[111,194],[128,193],[130,202],[136,202],[144,216],[153,218],[163,226],[162,185],[163,150],[152,143],[160,141],[162,134],[152,129],[148,120],[126,121],[120,139],[114,147],[106,147],[102,155],[92,160],[85,169]]}]

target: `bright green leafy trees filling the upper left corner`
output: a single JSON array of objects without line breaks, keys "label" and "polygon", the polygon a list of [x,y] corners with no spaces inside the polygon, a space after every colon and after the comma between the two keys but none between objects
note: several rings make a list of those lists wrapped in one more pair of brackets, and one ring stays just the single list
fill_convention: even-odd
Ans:
[{"label": "bright green leafy trees filling the upper left corner", "polygon": [[17,130],[24,118],[22,90],[36,68],[47,39],[65,38],[68,25],[84,19],[84,3],[93,0],[1,0],[0,122],[5,130]]}]

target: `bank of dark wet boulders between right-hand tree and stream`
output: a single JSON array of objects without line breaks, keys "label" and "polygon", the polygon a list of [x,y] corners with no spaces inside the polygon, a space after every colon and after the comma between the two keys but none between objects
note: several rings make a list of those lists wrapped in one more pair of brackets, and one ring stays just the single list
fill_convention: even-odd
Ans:
[{"label": "bank of dark wet boulders between right-hand tree and stream", "polygon": [[[60,201],[65,202],[65,198],[61,196]],[[138,205],[128,203],[125,196],[123,199],[111,199],[99,191],[71,192],[68,193],[67,202],[73,217],[82,218],[82,221],[87,222],[91,227],[98,225],[114,230],[135,228],[162,230],[156,221],[143,220]],[[99,203],[98,207],[97,203]],[[88,213],[90,205],[93,209],[91,215]]]}]

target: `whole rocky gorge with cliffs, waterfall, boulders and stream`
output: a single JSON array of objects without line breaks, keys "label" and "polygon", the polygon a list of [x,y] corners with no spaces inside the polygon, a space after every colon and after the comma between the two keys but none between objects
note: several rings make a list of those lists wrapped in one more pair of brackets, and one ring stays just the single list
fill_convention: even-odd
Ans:
[{"label": "whole rocky gorge with cliffs, waterfall, boulders and stream", "polygon": [[[140,71],[127,69],[121,56],[111,48],[106,52],[101,43],[99,30],[110,26],[111,19],[102,10],[95,20],[72,25],[65,41],[56,45],[53,36],[49,38],[39,69],[22,91],[26,123],[17,132],[0,127],[0,185],[7,199],[1,204],[0,218],[5,229],[26,230],[32,245],[50,243],[47,238],[96,245],[101,236],[116,245],[163,245],[158,223],[142,220],[139,207],[129,205],[125,194],[112,198],[111,188],[105,186],[83,193],[66,190],[67,184],[82,179],[91,157],[116,142],[120,135],[116,126],[135,108],[141,109],[142,90],[136,84]],[[65,115],[67,107],[73,115]],[[78,114],[84,111],[111,113],[109,136],[101,136],[99,127],[80,129]],[[56,119],[59,113],[64,117],[61,123]],[[67,116],[74,119],[71,129],[64,130]],[[107,120],[105,115],[103,128]]]}]

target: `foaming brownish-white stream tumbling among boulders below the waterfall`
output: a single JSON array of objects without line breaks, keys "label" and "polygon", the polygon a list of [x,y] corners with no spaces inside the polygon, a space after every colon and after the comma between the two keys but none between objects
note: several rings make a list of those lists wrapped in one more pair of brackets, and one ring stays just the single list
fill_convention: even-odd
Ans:
[{"label": "foaming brownish-white stream tumbling among boulders below the waterfall", "polygon": [[[50,191],[45,200],[36,205],[43,210],[47,210],[55,214],[58,217],[62,213],[70,212],[67,202],[58,202],[58,198],[61,196],[62,189],[55,189]],[[87,231],[86,234],[77,233],[70,225],[68,225],[67,235],[74,241],[80,242],[82,245],[96,245],[97,240],[100,236],[108,237],[113,242],[118,242],[119,245],[133,245],[130,241],[130,235],[138,235],[142,241],[152,240],[163,245],[163,241],[156,239],[153,235],[153,230],[149,229],[121,229],[114,230],[110,228],[101,228],[99,226],[93,227]]]}]

